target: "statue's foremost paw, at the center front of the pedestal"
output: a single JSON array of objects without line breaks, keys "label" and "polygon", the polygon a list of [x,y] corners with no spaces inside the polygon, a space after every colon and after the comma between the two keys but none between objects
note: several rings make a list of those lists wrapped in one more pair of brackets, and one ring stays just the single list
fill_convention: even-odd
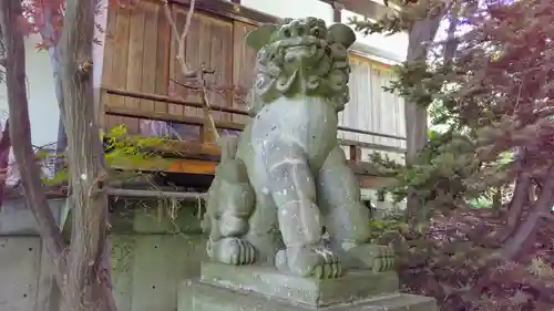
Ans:
[{"label": "statue's foremost paw, at the center front of the pedestal", "polygon": [[317,279],[334,279],[342,276],[338,256],[324,247],[298,247],[279,250],[277,269],[289,273]]}]

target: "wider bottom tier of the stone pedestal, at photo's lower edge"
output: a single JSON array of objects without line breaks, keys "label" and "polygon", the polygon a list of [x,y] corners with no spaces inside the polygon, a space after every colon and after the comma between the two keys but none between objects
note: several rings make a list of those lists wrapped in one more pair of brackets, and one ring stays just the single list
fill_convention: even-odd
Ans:
[{"label": "wider bottom tier of the stone pedestal, at photo's lower edge", "polygon": [[[276,284],[277,286],[277,284]],[[435,311],[434,299],[394,293],[329,307],[295,303],[256,292],[242,292],[198,280],[188,280],[178,289],[177,311]]]}]

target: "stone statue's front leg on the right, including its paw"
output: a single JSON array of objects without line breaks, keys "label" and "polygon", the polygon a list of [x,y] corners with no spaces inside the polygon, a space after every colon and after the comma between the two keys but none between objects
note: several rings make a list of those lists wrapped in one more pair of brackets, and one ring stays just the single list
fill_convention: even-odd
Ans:
[{"label": "stone statue's front leg on the right, including its paw", "polygon": [[332,249],[342,253],[345,268],[390,269],[390,247],[370,245],[369,210],[361,203],[358,180],[337,146],[318,174],[318,204],[324,212]]}]

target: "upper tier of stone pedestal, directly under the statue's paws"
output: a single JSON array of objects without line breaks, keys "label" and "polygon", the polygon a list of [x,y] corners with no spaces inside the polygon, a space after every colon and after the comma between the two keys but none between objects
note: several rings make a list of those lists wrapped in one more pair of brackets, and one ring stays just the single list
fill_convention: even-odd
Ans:
[{"label": "upper tier of stone pedestal, directly under the statue's paws", "polygon": [[351,271],[339,279],[317,280],[285,274],[274,268],[235,267],[213,262],[202,263],[201,282],[316,308],[399,291],[398,277],[392,271]]}]

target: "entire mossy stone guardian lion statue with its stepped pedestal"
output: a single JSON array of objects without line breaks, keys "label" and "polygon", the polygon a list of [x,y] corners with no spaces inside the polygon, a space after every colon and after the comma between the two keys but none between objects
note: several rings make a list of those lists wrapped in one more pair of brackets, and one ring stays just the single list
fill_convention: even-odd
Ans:
[{"label": "entire mossy stone guardian lion statue with its stepped pedestal", "polygon": [[437,309],[399,293],[391,247],[368,243],[368,209],[337,141],[355,41],[346,24],[316,18],[248,35],[258,51],[253,118],[218,142],[203,224],[217,263],[182,284],[179,311]]}]

